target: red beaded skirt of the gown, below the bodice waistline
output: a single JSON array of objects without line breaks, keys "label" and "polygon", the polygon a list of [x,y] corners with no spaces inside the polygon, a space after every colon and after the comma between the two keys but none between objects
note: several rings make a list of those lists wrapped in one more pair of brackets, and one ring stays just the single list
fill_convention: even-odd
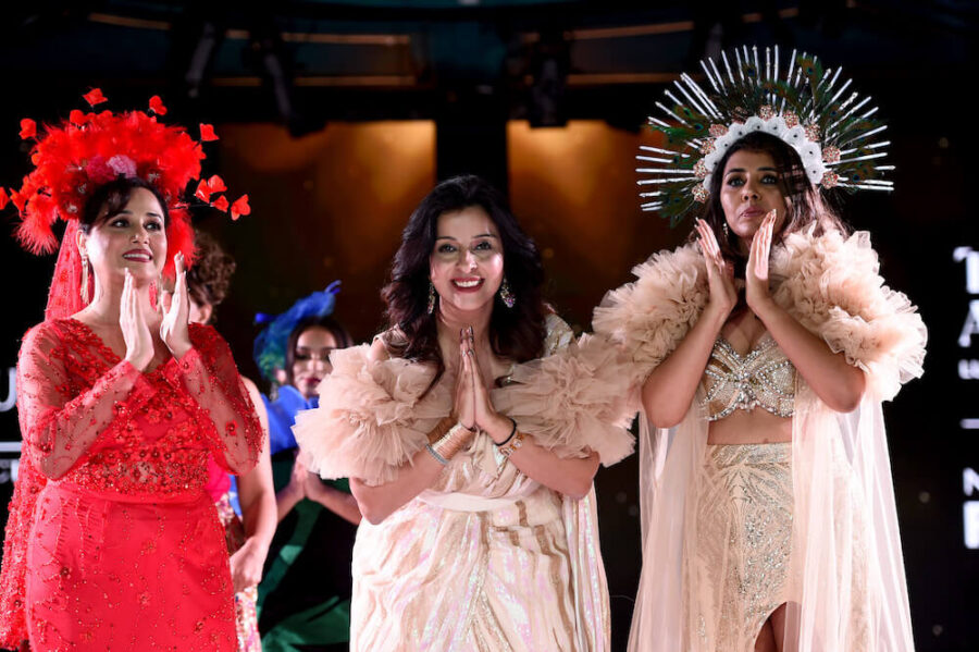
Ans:
[{"label": "red beaded skirt of the gown, below the bodice waistline", "polygon": [[224,532],[202,491],[150,502],[52,482],[34,519],[32,650],[235,649]]}]

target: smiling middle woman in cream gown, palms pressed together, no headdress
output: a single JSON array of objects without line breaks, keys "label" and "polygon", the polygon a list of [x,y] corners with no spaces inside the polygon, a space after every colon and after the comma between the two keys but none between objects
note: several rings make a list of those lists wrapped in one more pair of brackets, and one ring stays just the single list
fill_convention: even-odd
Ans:
[{"label": "smiling middle woman in cream gown, palms pressed together, no headdress", "polygon": [[384,290],[391,328],[337,350],[295,427],[349,477],[355,651],[609,649],[592,479],[632,450],[616,352],[541,299],[532,241],[478,177],[439,184]]}]

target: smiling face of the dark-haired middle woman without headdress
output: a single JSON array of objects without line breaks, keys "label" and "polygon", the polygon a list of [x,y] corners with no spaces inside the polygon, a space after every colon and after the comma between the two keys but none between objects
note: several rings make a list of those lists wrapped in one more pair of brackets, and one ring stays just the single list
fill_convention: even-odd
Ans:
[{"label": "smiling face of the dark-haired middle woman without headdress", "polygon": [[471,311],[493,304],[503,282],[499,230],[480,206],[438,216],[430,279],[446,307]]}]

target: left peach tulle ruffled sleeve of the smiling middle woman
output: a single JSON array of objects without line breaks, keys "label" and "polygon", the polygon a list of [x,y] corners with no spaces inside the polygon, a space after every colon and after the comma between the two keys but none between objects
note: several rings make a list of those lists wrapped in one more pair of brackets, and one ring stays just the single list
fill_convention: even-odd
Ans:
[{"label": "left peach tulle ruffled sleeve of the smiling middle woman", "polygon": [[320,405],[296,416],[293,433],[324,479],[359,478],[376,485],[397,478],[448,416],[447,383],[427,393],[433,370],[401,358],[371,360],[370,346],[334,350]]}]

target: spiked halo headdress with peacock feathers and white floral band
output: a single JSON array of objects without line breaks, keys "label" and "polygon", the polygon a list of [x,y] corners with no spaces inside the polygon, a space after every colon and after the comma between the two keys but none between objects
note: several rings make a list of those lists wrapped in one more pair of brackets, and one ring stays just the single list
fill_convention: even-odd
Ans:
[{"label": "spiked halo headdress with peacock feathers and white floral band", "polygon": [[[671,122],[649,118],[649,126],[666,135],[665,147],[641,146],[639,168],[648,175],[640,186],[643,210],[658,211],[673,225],[705,204],[710,176],[731,145],[752,132],[764,132],[792,146],[814,186],[848,190],[891,190],[893,182],[881,179],[893,165],[880,165],[887,140],[873,140],[887,125],[871,116],[869,97],[847,94],[852,79],[841,82],[841,69],[822,67],[816,57],[792,51],[784,76],[779,69],[779,48],[765,48],[764,67],[758,48],[734,49],[730,64],[721,53],[721,67],[711,59],[701,61],[711,93],[690,75],[673,82],[682,100],[666,91],[670,109],[656,106]],[[649,156],[653,155],[653,156]]]}]

